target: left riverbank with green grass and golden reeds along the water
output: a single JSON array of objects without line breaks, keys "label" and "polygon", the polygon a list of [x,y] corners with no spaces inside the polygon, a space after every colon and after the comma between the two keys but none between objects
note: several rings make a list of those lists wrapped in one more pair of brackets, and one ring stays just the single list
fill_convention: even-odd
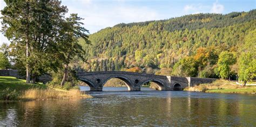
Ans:
[{"label": "left riverbank with green grass and golden reeds along the water", "polygon": [[61,90],[43,83],[28,84],[16,77],[0,76],[0,100],[31,101],[68,98],[91,98],[78,89]]}]

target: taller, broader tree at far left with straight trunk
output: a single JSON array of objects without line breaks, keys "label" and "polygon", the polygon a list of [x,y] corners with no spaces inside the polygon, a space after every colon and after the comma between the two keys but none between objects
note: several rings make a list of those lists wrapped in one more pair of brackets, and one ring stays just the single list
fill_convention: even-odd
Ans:
[{"label": "taller, broader tree at far left with straight trunk", "polygon": [[68,12],[60,1],[5,1],[2,32],[10,40],[10,55],[18,67],[26,66],[27,82],[57,70],[59,26]]}]

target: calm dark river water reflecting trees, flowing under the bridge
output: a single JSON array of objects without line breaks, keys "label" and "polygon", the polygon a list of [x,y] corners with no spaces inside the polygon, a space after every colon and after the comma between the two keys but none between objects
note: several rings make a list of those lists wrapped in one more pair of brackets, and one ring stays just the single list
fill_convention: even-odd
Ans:
[{"label": "calm dark river water reflecting trees, flowing under the bridge", "polygon": [[89,92],[89,99],[0,102],[0,126],[256,126],[256,95],[103,90]]}]

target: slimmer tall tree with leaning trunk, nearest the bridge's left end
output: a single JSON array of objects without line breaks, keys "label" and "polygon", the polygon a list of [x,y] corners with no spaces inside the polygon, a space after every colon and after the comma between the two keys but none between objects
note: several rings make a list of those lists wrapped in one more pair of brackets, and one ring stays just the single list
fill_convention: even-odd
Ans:
[{"label": "slimmer tall tree with leaning trunk, nearest the bridge's left end", "polygon": [[78,39],[81,38],[88,44],[89,41],[87,40],[88,36],[86,33],[89,31],[81,26],[83,25],[83,23],[80,22],[82,19],[83,18],[78,17],[77,14],[72,13],[70,17],[66,18],[62,23],[62,30],[60,31],[62,36],[60,43],[58,43],[58,50],[61,54],[60,60],[62,60],[64,65],[64,75],[60,86],[63,86],[66,81],[66,75],[71,60],[77,57],[85,61],[83,57],[85,51],[82,46],[78,44]]}]

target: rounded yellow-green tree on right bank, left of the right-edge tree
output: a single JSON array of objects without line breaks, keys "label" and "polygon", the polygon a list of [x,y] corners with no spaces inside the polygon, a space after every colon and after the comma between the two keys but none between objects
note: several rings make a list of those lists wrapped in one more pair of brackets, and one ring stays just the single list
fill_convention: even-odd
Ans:
[{"label": "rounded yellow-green tree on right bank, left of the right-edge tree", "polygon": [[219,60],[218,60],[218,71],[220,74],[220,77],[223,79],[227,79],[230,77],[231,74],[231,68],[230,66],[235,63],[235,56],[234,53],[232,52],[221,52],[219,55]]}]

